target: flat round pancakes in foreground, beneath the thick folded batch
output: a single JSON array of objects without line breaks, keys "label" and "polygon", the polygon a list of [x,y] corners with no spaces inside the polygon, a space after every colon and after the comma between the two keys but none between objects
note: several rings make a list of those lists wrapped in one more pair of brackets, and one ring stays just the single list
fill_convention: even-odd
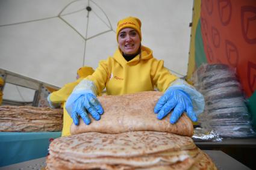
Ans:
[{"label": "flat round pancakes in foreground, beneath the thick folded batch", "polygon": [[55,139],[49,153],[47,169],[215,167],[191,138],[164,132],[82,133]]}]

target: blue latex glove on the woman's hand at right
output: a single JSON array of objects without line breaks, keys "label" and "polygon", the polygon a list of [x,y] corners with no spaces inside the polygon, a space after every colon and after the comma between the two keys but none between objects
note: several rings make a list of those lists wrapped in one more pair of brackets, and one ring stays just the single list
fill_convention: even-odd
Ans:
[{"label": "blue latex glove on the woman's hand at right", "polygon": [[193,111],[192,100],[189,94],[183,90],[168,88],[163,96],[155,105],[154,112],[159,120],[163,119],[173,109],[170,116],[170,123],[174,124],[181,117],[183,112],[187,112],[187,116],[192,121],[197,121],[196,114]]}]

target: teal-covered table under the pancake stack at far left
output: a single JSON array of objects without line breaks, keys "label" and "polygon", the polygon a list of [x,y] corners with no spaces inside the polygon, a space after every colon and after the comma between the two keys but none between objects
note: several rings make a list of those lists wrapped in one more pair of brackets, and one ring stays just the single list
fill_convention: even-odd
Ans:
[{"label": "teal-covered table under the pancake stack at far left", "polygon": [[45,157],[61,132],[0,132],[0,167]]}]

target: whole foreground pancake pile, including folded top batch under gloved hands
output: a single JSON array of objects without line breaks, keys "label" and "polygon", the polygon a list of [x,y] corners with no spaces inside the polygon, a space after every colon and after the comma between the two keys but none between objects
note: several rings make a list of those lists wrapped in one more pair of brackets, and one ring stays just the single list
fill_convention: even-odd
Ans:
[{"label": "whole foreground pancake pile, including folded top batch under gloved hands", "polygon": [[216,169],[190,138],[186,114],[178,123],[157,120],[154,106],[162,94],[144,92],[98,97],[100,121],[72,125],[71,136],[55,139],[46,169]]}]

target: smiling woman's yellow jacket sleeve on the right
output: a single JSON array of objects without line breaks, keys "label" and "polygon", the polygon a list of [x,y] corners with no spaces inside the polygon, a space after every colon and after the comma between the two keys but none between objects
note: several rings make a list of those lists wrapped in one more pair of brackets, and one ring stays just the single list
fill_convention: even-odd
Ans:
[{"label": "smiling woman's yellow jacket sleeve on the right", "polygon": [[166,91],[170,83],[178,79],[177,76],[170,73],[170,71],[164,67],[163,60],[154,59],[152,62],[151,76],[153,77],[153,82],[155,86],[161,92]]}]

